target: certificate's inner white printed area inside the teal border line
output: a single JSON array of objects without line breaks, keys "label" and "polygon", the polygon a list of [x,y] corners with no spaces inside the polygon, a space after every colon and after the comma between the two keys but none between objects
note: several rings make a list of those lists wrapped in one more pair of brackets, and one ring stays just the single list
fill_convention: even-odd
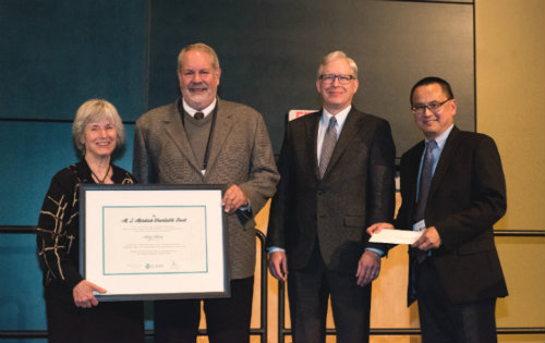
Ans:
[{"label": "certificate's inner white printed area inside the teal border line", "polygon": [[105,275],[205,273],[206,206],[104,206],[102,245]]}]

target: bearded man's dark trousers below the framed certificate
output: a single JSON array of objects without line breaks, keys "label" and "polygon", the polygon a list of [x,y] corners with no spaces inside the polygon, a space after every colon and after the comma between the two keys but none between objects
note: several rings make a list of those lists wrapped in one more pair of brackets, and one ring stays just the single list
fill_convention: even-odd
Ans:
[{"label": "bearded man's dark trousers below the framed certificate", "polygon": [[[204,302],[210,343],[250,341],[254,277],[231,281],[231,297]],[[155,302],[155,341],[194,343],[201,322],[201,299]]]}]

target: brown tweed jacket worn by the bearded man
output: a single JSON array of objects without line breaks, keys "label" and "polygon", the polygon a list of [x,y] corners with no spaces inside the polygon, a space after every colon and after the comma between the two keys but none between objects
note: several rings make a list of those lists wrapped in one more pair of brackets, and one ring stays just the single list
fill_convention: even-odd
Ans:
[{"label": "brown tweed jacket worn by the bearded man", "polygon": [[[142,183],[235,184],[256,215],[275,194],[279,179],[269,135],[254,109],[218,99],[206,174],[201,173],[182,125],[177,102],[142,115],[134,128],[133,173]],[[255,268],[255,221],[241,211],[227,216],[232,279],[249,278]]]}]

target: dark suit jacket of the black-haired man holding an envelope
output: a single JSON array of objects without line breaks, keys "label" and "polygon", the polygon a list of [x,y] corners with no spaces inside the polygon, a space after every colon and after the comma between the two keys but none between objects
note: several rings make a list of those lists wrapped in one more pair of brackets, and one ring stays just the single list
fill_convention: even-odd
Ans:
[{"label": "dark suit jacket of the black-haired man holding an envelope", "polygon": [[[421,142],[401,157],[402,205],[396,228],[412,230],[423,150]],[[455,126],[432,179],[424,216],[426,226],[435,226],[441,238],[431,261],[451,302],[507,295],[493,232],[493,224],[506,208],[506,184],[496,144],[486,135]]]}]

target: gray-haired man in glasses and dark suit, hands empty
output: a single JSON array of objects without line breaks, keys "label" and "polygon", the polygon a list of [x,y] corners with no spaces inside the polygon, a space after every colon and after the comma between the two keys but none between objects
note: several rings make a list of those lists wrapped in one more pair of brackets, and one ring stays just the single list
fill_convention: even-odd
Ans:
[{"label": "gray-haired man in glasses and dark suit, hands empty", "polygon": [[385,247],[365,228],[393,216],[395,146],[388,122],[352,106],[358,86],[355,62],[327,54],[316,79],[323,110],[286,128],[267,247],[270,272],[288,280],[293,342],[325,341],[329,295],[337,342],[368,341]]}]

